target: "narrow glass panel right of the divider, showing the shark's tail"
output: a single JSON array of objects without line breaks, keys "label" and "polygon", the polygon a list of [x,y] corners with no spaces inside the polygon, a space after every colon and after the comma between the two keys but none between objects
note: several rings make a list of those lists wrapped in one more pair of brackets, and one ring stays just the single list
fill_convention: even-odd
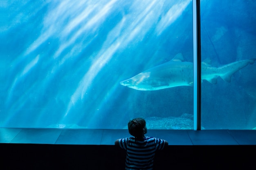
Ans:
[{"label": "narrow glass panel right of the divider, showing the shark's tail", "polygon": [[253,129],[256,1],[202,0],[200,5],[202,129]]}]

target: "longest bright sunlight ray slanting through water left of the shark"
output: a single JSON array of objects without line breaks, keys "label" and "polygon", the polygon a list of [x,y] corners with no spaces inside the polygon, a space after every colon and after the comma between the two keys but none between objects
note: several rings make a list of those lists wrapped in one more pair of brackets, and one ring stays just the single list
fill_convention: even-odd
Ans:
[{"label": "longest bright sunlight ray slanting through water left of the shark", "polygon": [[[152,5],[153,4],[150,4],[150,7],[152,7]],[[148,8],[147,8],[147,11],[148,11]],[[144,13],[139,15],[139,17],[137,18],[137,24],[139,24],[139,20],[142,20],[144,15],[145,15]],[[65,113],[65,116],[70,111],[70,109],[75,105],[75,103],[78,99],[83,100],[84,94],[88,90],[88,87],[90,86],[94,77],[97,76],[97,74],[99,73],[101,68],[110,60],[110,58],[117,51],[117,49],[120,47],[120,45],[122,45],[122,47],[126,46],[126,44],[128,44],[130,41],[132,41],[132,39],[135,38],[137,34],[139,34],[138,31],[133,33],[133,36],[130,36],[131,33],[122,34],[122,35],[119,35],[118,33],[120,33],[120,31],[123,29],[134,32],[134,30],[136,30],[136,29],[134,29],[134,27],[141,29],[145,26],[145,24],[143,24],[143,23],[148,23],[149,20],[150,20],[150,18],[146,18],[146,19],[144,19],[144,21],[146,21],[146,22],[142,22],[142,24],[140,24],[138,26],[137,25],[133,25],[133,26],[127,25],[128,26],[128,28],[127,28],[126,24],[129,24],[129,23],[126,22],[126,18],[124,17],[119,22],[119,24],[117,24],[117,26],[112,31],[110,31],[110,33],[109,33],[110,36],[107,37],[107,40],[102,45],[101,51],[99,51],[99,53],[97,55],[100,57],[95,57],[96,60],[95,60],[94,64],[90,67],[88,72],[84,75],[83,79],[79,83],[79,87],[76,88],[75,93],[72,95],[72,97],[70,99],[70,103],[67,106],[67,111]],[[124,24],[125,22],[126,22],[126,24]],[[148,28],[148,29],[150,29],[150,28]],[[125,31],[125,32],[127,32],[127,31]],[[113,39],[113,36],[111,36],[113,33],[115,33],[115,36],[119,37],[117,40]],[[113,40],[115,40],[115,41],[113,42]],[[110,44],[112,44],[112,45],[109,46]]]}]

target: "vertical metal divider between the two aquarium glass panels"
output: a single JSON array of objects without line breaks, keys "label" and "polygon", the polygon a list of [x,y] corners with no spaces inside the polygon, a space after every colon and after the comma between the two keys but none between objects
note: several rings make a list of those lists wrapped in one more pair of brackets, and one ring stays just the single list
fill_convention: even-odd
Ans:
[{"label": "vertical metal divider between the two aquarium glass panels", "polygon": [[200,0],[193,0],[193,112],[194,130],[201,130],[201,29]]}]

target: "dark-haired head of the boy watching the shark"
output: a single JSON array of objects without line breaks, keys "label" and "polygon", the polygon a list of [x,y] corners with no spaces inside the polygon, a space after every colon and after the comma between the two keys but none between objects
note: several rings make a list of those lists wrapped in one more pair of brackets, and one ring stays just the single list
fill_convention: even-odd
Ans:
[{"label": "dark-haired head of the boy watching the shark", "polygon": [[135,118],[128,122],[129,133],[134,137],[143,137],[147,133],[146,121],[143,118]]}]

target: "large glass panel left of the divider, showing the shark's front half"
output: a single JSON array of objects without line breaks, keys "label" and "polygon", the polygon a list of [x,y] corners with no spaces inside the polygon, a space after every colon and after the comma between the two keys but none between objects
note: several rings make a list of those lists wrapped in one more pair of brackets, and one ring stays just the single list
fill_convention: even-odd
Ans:
[{"label": "large glass panel left of the divider, showing the shark's front half", "polygon": [[0,127],[126,128],[144,117],[148,128],[193,129],[191,0],[0,8]]}]

